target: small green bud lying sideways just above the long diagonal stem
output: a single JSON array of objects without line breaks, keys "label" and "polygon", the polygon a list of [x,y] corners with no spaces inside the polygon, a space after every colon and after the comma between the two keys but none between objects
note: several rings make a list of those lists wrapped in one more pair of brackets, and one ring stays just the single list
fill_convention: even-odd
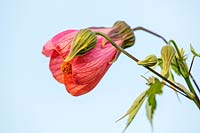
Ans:
[{"label": "small green bud lying sideways just above the long diagonal stem", "polygon": [[144,60],[137,62],[138,65],[152,67],[157,64],[157,57],[155,55],[149,55]]}]

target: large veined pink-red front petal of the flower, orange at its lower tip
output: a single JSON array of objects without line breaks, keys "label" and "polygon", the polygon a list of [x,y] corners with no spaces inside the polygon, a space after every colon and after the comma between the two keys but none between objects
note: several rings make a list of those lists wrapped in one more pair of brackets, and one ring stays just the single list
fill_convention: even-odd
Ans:
[{"label": "large veined pink-red front petal of the flower, orange at its lower tip", "polygon": [[[102,43],[103,38],[100,38],[94,49],[70,61],[72,74],[64,76],[64,84],[71,95],[79,96],[91,91],[111,66],[109,62],[115,58],[117,50],[109,43],[102,48]],[[117,43],[122,44],[122,41]]]}]

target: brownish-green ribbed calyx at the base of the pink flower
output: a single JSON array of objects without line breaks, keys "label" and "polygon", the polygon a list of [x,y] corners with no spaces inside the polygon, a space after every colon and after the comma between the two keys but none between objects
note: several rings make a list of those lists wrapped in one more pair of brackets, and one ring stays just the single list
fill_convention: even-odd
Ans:
[{"label": "brownish-green ribbed calyx at the base of the pink flower", "polygon": [[125,21],[117,21],[113,25],[113,30],[109,33],[111,39],[123,39],[123,48],[128,48],[134,45],[135,35],[131,27]]}]

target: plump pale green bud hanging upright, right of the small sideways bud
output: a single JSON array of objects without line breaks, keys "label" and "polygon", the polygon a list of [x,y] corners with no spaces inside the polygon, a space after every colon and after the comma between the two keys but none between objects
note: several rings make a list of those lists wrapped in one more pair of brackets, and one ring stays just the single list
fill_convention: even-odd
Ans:
[{"label": "plump pale green bud hanging upright, right of the small sideways bud", "polygon": [[165,45],[162,47],[161,58],[163,61],[163,64],[162,64],[162,75],[163,76],[168,75],[169,68],[170,68],[172,59],[174,58],[175,54],[176,54],[176,51],[175,51],[174,47],[172,47],[171,45]]}]

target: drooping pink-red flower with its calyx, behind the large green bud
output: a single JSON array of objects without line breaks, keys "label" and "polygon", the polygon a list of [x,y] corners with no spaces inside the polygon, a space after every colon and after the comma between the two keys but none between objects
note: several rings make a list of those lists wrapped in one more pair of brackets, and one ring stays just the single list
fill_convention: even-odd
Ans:
[{"label": "drooping pink-red flower with its calyx, behind the large green bud", "polygon": [[[131,28],[123,21],[116,22],[111,28],[88,29],[94,33],[106,34],[123,48],[130,47],[135,42]],[[91,91],[119,55],[115,47],[98,35],[94,47],[65,61],[71,53],[73,42],[79,42],[75,40],[78,32],[79,30],[61,32],[49,40],[42,50],[45,56],[50,57],[49,68],[53,77],[64,84],[66,90],[73,96]],[[85,38],[78,37],[78,39]]]}]

